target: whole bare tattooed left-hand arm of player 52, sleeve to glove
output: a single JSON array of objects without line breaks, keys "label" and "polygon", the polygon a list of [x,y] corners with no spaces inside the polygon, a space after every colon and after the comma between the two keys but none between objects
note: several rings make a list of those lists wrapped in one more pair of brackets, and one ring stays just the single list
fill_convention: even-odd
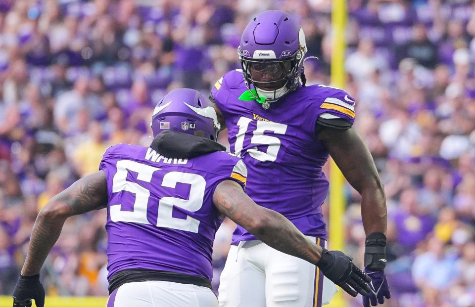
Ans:
[{"label": "whole bare tattooed left-hand arm of player 52, sleeve to glove", "polygon": [[79,179],[54,196],[35,221],[21,273],[31,276],[40,272],[68,217],[106,206],[107,180],[103,171]]}]

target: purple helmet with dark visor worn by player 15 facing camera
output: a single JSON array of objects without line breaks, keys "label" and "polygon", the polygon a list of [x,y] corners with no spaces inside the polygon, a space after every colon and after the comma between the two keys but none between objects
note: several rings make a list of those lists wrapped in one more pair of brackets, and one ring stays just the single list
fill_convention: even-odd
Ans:
[{"label": "purple helmet with dark visor worn by player 15 facing camera", "polygon": [[254,97],[274,102],[299,86],[305,35],[295,16],[282,11],[265,11],[244,29],[238,48],[247,88]]}]

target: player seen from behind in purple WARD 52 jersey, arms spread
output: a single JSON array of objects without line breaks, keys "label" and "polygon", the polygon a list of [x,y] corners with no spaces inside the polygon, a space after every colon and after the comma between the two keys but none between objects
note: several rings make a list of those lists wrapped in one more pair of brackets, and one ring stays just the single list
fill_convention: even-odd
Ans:
[{"label": "player seen from behind in purple WARD 52 jersey, arms spread", "polygon": [[107,307],[217,307],[211,253],[225,217],[276,250],[318,266],[351,295],[367,294],[369,277],[350,258],[312,242],[244,194],[246,167],[214,141],[219,127],[205,96],[189,88],[168,93],[154,109],[150,147],[109,147],[97,173],[54,196],[39,213],[13,306],[31,306],[32,299],[44,306],[39,273],[64,221],[102,208]]}]

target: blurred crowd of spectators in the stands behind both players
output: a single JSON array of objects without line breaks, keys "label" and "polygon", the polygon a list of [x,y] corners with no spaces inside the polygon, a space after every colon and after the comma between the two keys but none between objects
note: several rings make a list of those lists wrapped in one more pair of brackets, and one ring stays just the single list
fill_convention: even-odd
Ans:
[{"label": "blurred crowd of spectators in the stands behind both players", "polygon": [[[475,307],[475,4],[347,2],[345,89],[386,190],[388,305]],[[240,34],[258,12],[301,16],[319,57],[305,63],[307,84],[330,84],[331,5],[0,0],[0,294],[12,293],[47,201],[95,172],[108,146],[148,146],[167,91],[206,94],[238,68]],[[345,193],[346,251],[362,265],[359,195]],[[47,294],[107,294],[105,220],[105,210],[67,220],[42,272]],[[216,236],[215,286],[233,229],[226,221]]]}]

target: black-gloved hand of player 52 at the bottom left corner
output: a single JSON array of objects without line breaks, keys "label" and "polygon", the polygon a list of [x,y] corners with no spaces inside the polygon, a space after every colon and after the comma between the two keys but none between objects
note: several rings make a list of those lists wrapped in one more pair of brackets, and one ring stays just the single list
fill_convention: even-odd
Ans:
[{"label": "black-gloved hand of player 52 at the bottom left corner", "polygon": [[20,274],[12,297],[13,307],[30,307],[31,300],[35,300],[37,307],[44,307],[45,289],[40,282],[40,275],[23,276]]}]

